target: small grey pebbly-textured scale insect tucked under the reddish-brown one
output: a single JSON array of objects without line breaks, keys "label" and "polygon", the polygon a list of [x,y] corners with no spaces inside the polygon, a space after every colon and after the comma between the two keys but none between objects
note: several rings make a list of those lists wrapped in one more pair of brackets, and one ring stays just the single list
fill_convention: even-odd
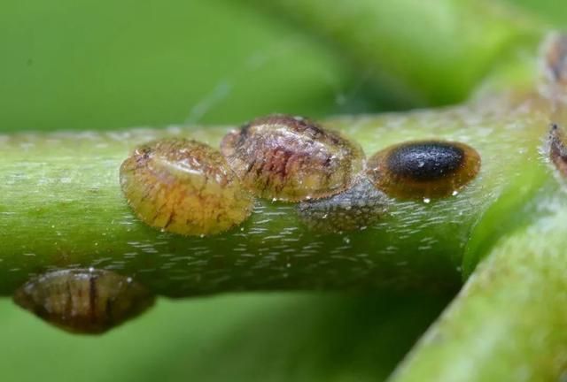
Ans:
[{"label": "small grey pebbly-textured scale insect tucked under the reddish-brown one", "polygon": [[388,197],[362,178],[346,191],[315,201],[300,202],[298,214],[310,229],[326,233],[360,230],[384,217]]}]

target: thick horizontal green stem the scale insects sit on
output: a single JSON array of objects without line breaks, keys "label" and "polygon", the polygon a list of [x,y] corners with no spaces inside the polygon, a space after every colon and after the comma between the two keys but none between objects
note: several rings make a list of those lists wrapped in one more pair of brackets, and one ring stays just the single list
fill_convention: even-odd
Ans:
[{"label": "thick horizontal green stem the scale insects sit on", "polygon": [[[377,225],[350,233],[310,231],[295,204],[269,201],[258,201],[243,225],[204,238],[161,233],[140,222],[118,180],[128,153],[168,135],[218,147],[227,127],[2,136],[0,293],[12,294],[33,274],[76,266],[119,271],[169,296],[454,289],[470,233],[485,210],[501,205],[503,213],[515,211],[548,179],[539,154],[546,107],[530,95],[502,95],[447,110],[323,121],[361,143],[367,155],[400,141],[437,138],[468,143],[482,157],[478,178],[458,195],[431,202],[392,199]],[[524,193],[515,192],[518,183]],[[505,215],[485,224],[502,221]],[[506,224],[513,229],[515,222]]]}]

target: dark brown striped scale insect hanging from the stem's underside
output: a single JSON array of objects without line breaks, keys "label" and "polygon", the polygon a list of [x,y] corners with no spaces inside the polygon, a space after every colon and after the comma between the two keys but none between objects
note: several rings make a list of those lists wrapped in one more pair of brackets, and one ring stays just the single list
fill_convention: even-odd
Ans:
[{"label": "dark brown striped scale insect hanging from the stem's underside", "polygon": [[154,296],[113,271],[51,271],[28,281],[14,302],[67,332],[97,334],[136,317]]}]

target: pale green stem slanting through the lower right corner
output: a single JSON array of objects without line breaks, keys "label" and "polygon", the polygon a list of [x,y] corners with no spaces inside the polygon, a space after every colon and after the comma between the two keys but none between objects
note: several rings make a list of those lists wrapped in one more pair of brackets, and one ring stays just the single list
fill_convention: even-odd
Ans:
[{"label": "pale green stem slanting through the lower right corner", "polygon": [[556,381],[567,369],[567,200],[498,242],[392,381]]}]

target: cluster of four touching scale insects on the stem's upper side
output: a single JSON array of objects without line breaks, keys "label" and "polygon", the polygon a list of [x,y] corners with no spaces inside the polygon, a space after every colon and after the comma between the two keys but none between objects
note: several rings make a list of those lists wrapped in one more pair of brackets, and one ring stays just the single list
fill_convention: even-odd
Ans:
[{"label": "cluster of four touching scale insects on the stem's upper side", "polygon": [[276,114],[226,134],[220,152],[183,138],[145,144],[120,167],[120,185],[138,218],[171,233],[226,231],[253,197],[299,202],[307,227],[343,232],[376,223],[390,198],[452,195],[479,168],[474,149],[451,141],[405,142],[367,162],[344,135]]}]

